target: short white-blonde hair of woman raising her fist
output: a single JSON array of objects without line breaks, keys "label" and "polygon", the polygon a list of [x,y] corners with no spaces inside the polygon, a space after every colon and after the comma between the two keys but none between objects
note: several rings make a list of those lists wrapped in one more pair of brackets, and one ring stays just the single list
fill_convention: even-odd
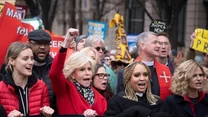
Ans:
[{"label": "short white-blonde hair of woman raising her fist", "polygon": [[63,68],[63,74],[64,76],[70,80],[73,81],[71,74],[78,68],[83,67],[87,63],[90,63],[90,66],[92,68],[92,72],[94,72],[94,62],[92,58],[87,56],[83,52],[76,52],[72,54],[65,62],[64,68]]}]

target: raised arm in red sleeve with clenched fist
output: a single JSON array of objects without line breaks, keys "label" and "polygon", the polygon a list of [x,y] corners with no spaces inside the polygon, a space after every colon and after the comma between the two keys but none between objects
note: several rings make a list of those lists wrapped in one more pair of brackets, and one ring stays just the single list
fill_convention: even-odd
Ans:
[{"label": "raised arm in red sleeve with clenched fist", "polygon": [[50,72],[49,77],[52,82],[53,90],[56,96],[64,94],[66,89],[66,78],[62,72],[64,67],[64,62],[66,58],[67,48],[70,46],[70,43],[73,42],[74,38],[79,34],[77,29],[70,28],[67,30],[66,37],[62,44],[60,51],[55,56]]}]

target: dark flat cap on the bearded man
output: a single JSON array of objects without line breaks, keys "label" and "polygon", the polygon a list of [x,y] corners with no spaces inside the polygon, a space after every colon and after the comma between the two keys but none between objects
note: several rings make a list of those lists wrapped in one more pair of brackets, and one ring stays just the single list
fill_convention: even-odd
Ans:
[{"label": "dark flat cap on the bearded man", "polygon": [[33,41],[50,42],[51,36],[44,30],[33,30],[29,32],[28,39]]}]

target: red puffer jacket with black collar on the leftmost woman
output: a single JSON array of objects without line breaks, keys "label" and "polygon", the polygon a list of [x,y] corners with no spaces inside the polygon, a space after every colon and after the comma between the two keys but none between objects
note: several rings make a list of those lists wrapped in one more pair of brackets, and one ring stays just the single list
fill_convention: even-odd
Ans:
[{"label": "red puffer jacket with black collar on the leftmost woman", "polygon": [[[44,82],[35,78],[34,75],[28,77],[27,83],[28,94],[28,114],[39,115],[40,108],[49,106],[48,88]],[[0,104],[5,108],[6,113],[9,114],[13,110],[20,111],[21,102],[17,87],[14,84],[11,73],[4,75],[3,80],[0,82]]]}]

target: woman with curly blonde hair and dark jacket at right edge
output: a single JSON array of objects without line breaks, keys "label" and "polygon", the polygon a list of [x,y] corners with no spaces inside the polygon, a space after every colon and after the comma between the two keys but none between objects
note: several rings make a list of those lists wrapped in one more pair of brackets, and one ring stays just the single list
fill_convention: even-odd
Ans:
[{"label": "woman with curly blonde hair and dark jacket at right edge", "polygon": [[196,61],[184,61],[175,69],[170,89],[173,95],[166,102],[174,117],[208,116],[207,78]]}]

